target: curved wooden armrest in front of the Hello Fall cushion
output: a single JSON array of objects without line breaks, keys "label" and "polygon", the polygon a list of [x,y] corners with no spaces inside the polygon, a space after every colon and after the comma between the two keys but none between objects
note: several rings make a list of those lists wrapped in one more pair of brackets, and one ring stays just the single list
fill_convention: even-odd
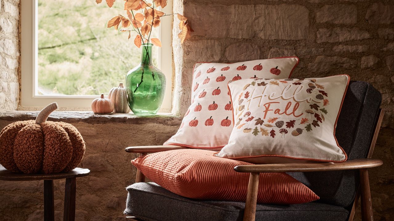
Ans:
[{"label": "curved wooden armrest in front of the Hello Fall cushion", "polygon": [[240,173],[279,173],[279,172],[314,172],[334,171],[350,169],[367,169],[378,167],[383,164],[382,160],[363,158],[348,160],[343,163],[319,162],[319,163],[296,163],[296,164],[256,164],[241,165],[234,167]]}]

